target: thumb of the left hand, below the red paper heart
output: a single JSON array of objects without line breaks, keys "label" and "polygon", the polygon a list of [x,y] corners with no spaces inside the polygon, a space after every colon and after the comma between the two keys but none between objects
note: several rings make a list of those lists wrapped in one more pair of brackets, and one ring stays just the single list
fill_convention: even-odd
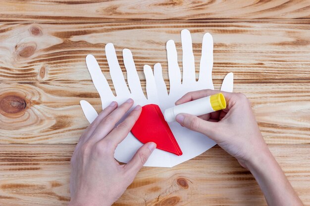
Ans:
[{"label": "thumb of the left hand, below the red paper heart", "polygon": [[130,170],[130,173],[136,175],[141,167],[147,162],[155,148],[156,144],[154,142],[148,142],[140,147],[133,158],[126,165],[127,169]]}]

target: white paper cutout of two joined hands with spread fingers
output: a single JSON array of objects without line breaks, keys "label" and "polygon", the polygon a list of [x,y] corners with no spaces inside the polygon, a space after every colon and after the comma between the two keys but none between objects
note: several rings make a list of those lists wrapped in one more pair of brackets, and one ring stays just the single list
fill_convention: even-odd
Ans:
[{"label": "white paper cutout of two joined hands with spread fingers", "polygon": [[[183,50],[183,82],[181,82],[181,72],[178,65],[175,43],[174,41],[169,40],[167,41],[166,49],[170,92],[169,94],[167,93],[166,85],[162,77],[161,65],[159,63],[154,65],[154,74],[152,68],[149,65],[145,65],[144,74],[146,77],[147,98],[141,88],[133,56],[129,49],[123,50],[123,59],[130,91],[124,80],[113,44],[108,43],[105,45],[105,54],[110,68],[110,75],[116,96],[113,95],[95,57],[88,55],[86,57],[87,68],[91,74],[94,85],[100,94],[102,107],[105,108],[111,101],[117,101],[118,104],[121,104],[128,98],[132,98],[135,101],[132,108],[138,104],[141,106],[146,104],[157,104],[163,112],[165,109],[174,106],[174,102],[189,91],[214,89],[211,76],[213,67],[212,36],[207,33],[203,38],[198,81],[196,81],[195,78],[195,60],[192,48],[192,38],[188,30],[181,31],[181,41]],[[233,73],[226,75],[221,90],[232,92]],[[98,116],[97,112],[87,101],[82,100],[80,103],[87,120],[92,123]],[[169,126],[183,152],[183,155],[176,156],[172,153],[155,149],[145,166],[172,167],[202,154],[216,144],[205,135],[182,127],[176,122],[169,124]],[[117,146],[114,157],[119,162],[127,163],[141,146],[142,143],[137,140],[132,133],[129,133],[128,136]]]}]

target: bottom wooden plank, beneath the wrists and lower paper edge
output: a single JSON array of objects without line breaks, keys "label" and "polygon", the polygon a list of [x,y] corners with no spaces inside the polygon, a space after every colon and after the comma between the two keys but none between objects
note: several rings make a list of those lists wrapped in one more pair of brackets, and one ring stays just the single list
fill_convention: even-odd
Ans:
[{"label": "bottom wooden plank, beneath the wrists and lower paper edge", "polygon": [[[74,145],[0,145],[0,205],[65,206]],[[310,146],[270,146],[305,205]],[[265,206],[249,171],[219,147],[173,168],[144,167],[115,206]]]}]

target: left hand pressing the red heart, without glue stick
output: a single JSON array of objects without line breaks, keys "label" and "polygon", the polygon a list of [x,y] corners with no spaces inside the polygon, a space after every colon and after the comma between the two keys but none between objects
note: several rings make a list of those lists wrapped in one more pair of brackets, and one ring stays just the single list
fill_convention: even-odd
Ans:
[{"label": "left hand pressing the red heart, without glue stick", "polygon": [[132,99],[119,107],[116,102],[110,103],[82,134],[71,158],[69,206],[112,205],[155,149],[153,142],[144,144],[126,165],[119,165],[114,159],[115,148],[139,118],[141,106],[114,126],[133,104]]}]

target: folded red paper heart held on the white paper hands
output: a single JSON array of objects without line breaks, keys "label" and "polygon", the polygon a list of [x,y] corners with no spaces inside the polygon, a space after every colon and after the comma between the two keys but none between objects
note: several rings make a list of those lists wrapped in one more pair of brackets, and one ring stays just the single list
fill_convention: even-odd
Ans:
[{"label": "folded red paper heart held on the white paper hands", "polygon": [[155,142],[157,149],[171,152],[178,156],[182,155],[182,151],[158,105],[148,104],[143,106],[141,115],[132,127],[131,132],[144,144]]}]

